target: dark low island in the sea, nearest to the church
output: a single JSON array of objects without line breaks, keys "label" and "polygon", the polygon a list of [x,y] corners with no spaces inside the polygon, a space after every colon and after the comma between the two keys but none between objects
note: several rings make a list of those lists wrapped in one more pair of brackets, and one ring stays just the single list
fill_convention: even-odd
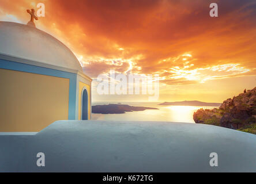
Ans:
[{"label": "dark low island in the sea, nearest to the church", "polygon": [[157,108],[130,106],[130,105],[123,105],[123,104],[93,105],[92,113],[123,114],[125,112],[141,111],[146,109],[157,109]]}]

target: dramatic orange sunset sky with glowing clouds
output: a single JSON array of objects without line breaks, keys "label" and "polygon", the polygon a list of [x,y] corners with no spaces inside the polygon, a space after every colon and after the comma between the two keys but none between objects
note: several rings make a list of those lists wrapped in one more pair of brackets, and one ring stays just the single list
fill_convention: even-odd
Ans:
[{"label": "dramatic orange sunset sky with glowing clouds", "polygon": [[[65,43],[93,81],[93,101],[147,101],[98,95],[99,74],[159,74],[159,101],[222,102],[256,86],[256,1],[0,1],[0,20],[27,24]],[[219,17],[209,16],[216,2]],[[37,9],[36,9],[37,10]]]}]

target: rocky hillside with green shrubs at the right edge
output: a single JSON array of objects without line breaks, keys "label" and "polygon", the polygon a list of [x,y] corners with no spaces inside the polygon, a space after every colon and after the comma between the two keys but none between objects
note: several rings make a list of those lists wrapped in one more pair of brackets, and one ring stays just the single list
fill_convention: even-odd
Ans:
[{"label": "rocky hillside with green shrubs at the right edge", "polygon": [[217,125],[256,134],[256,87],[228,98],[220,108],[199,109],[193,115],[196,123]]}]

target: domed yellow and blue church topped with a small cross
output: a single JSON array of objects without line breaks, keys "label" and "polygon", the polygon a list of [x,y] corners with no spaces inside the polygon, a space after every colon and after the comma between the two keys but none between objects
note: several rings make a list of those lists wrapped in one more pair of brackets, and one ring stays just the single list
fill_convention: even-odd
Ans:
[{"label": "domed yellow and blue church topped with a small cross", "polygon": [[25,24],[0,21],[0,132],[39,132],[91,118],[91,82],[69,48]]}]

